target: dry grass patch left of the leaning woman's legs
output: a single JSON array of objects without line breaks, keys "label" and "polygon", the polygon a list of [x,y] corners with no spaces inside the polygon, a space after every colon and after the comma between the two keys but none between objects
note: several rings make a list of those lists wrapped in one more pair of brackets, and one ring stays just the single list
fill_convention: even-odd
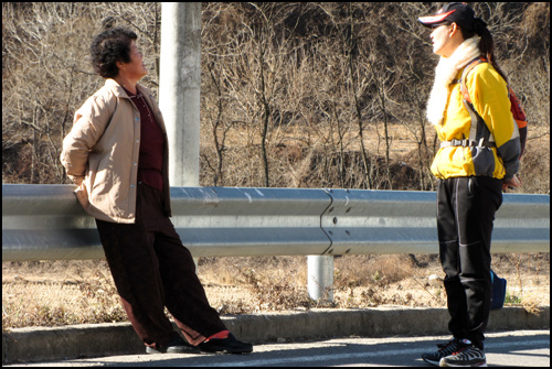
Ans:
[{"label": "dry grass patch left of the leaning woman's legs", "polygon": [[2,263],[2,327],[126,321],[105,261]]}]

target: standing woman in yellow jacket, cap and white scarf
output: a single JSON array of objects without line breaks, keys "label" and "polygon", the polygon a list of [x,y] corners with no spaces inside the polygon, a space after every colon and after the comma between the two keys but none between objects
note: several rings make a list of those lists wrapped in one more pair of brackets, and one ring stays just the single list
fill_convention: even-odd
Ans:
[{"label": "standing woman in yellow jacket, cap and white scarf", "polygon": [[[502,189],[520,185],[516,177],[519,133],[487,24],[460,2],[448,3],[437,14],[418,21],[433,29],[433,52],[440,56],[427,118],[442,141],[432,172],[439,178],[439,258],[446,273],[448,328],[453,334],[450,341],[438,345],[437,352],[422,358],[440,366],[486,366],[484,333],[492,296],[492,223],[502,203]],[[467,65],[481,57],[485,63],[463,74]],[[480,118],[463,97],[463,77]]]}]

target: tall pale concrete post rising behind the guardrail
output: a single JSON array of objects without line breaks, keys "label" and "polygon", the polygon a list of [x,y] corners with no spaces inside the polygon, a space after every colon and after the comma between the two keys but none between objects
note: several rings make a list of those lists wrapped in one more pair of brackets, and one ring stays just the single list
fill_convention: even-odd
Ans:
[{"label": "tall pale concrete post rising behind the guardrail", "polygon": [[163,2],[159,106],[171,186],[200,184],[201,2]]}]

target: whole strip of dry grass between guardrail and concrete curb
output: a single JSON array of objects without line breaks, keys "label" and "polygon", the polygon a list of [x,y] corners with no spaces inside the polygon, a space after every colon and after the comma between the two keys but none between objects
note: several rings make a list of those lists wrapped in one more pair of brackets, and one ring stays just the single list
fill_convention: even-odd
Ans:
[{"label": "whole strip of dry grass between guardrail and concrete curb", "polygon": [[[550,305],[550,253],[495,256],[510,305]],[[335,261],[335,301],[308,297],[306,257],[202,258],[198,274],[222,315],[311,307],[446,306],[428,276],[435,256],[348,256]],[[127,321],[104,260],[2,263],[2,329]]]}]

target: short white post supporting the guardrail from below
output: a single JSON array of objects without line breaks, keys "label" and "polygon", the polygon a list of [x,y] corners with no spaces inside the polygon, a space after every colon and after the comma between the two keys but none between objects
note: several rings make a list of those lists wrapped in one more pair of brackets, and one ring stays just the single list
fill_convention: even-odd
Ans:
[{"label": "short white post supporting the guardrail from below", "polygon": [[307,289],[312,300],[333,302],[333,257],[309,256]]}]

